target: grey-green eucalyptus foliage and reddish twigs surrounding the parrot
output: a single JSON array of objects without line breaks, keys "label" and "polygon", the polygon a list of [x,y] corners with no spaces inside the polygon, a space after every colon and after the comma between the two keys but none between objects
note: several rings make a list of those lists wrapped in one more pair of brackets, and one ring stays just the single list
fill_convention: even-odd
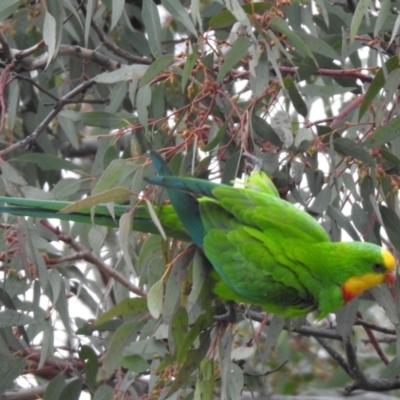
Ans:
[{"label": "grey-green eucalyptus foliage and reddish twigs surrounding the parrot", "polygon": [[[332,240],[397,254],[398,3],[159,3],[0,2],[0,193],[134,208],[165,199],[143,181],[151,149],[225,183],[249,153]],[[400,387],[396,288],[320,323],[270,316],[256,338],[257,309],[213,319],[198,250],[131,232],[129,216],[114,230],[7,215],[1,227],[2,398]]]}]

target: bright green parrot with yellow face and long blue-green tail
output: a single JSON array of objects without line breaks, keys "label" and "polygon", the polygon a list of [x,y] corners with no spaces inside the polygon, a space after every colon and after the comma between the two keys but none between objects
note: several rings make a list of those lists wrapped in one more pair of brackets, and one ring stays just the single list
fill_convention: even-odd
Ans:
[{"label": "bright green parrot with yellow face and long blue-green tail", "polygon": [[[167,236],[192,241],[212,264],[222,300],[261,306],[294,317],[317,311],[317,319],[340,309],[363,291],[396,279],[393,255],[371,243],[329,240],[304,211],[282,200],[266,174],[255,171],[241,187],[174,176],[150,154],[158,175],[146,180],[166,189],[171,204],[154,207]],[[69,202],[0,197],[0,212],[116,226],[105,205],[60,214]],[[126,206],[116,206],[121,216]],[[147,207],[137,207],[133,229],[159,233]]]}]

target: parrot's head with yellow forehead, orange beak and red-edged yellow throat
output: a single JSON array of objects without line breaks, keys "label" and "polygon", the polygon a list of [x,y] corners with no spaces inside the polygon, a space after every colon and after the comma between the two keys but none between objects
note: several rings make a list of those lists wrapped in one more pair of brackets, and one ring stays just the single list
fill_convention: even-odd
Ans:
[{"label": "parrot's head with yellow forehead, orange beak and red-edged yellow throat", "polygon": [[[365,243],[363,245],[365,249]],[[375,245],[365,250],[368,250],[368,254],[365,254],[364,260],[359,260],[360,273],[349,277],[342,285],[345,303],[376,285],[396,281],[396,260],[393,255]],[[371,260],[373,260],[372,263]]]}]

